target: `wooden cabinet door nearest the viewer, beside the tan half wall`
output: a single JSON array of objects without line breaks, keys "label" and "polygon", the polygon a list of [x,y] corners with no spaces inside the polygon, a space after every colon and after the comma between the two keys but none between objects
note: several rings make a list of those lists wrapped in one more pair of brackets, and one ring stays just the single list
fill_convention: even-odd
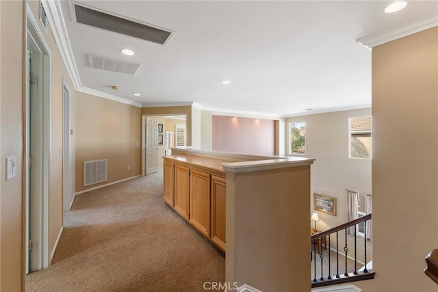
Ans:
[{"label": "wooden cabinet door nearest the viewer, beside the tan half wall", "polygon": [[211,241],[225,251],[225,178],[211,176]]}]

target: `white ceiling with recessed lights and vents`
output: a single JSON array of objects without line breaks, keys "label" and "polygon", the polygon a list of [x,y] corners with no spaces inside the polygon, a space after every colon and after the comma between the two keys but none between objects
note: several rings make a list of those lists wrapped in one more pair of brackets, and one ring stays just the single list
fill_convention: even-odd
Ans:
[{"label": "white ceiling with recessed lights and vents", "polygon": [[[71,2],[61,1],[83,88],[144,107],[195,102],[213,111],[271,116],[369,107],[371,50],[356,40],[438,19],[437,1],[409,1],[394,14],[383,12],[391,1],[76,3],[175,31],[163,46],[88,27],[73,23]],[[135,55],[123,55],[123,48]],[[140,68],[136,75],[92,69],[89,54]]]}]

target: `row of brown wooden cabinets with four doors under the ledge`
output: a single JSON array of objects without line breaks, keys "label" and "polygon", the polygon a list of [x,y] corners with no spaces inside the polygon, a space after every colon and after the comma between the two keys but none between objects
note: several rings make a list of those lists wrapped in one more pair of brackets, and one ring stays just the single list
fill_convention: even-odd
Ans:
[{"label": "row of brown wooden cabinets with four doors under the ledge", "polygon": [[[211,161],[211,160],[210,160]],[[203,160],[206,164],[208,159]],[[163,198],[201,234],[225,252],[224,172],[220,168],[166,157]]]}]

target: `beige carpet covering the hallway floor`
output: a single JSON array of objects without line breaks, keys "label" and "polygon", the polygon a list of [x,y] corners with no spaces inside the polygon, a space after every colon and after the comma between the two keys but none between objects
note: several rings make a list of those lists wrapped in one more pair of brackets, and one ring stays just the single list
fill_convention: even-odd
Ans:
[{"label": "beige carpet covering the hallway floor", "polygon": [[162,199],[162,172],[76,196],[51,267],[26,291],[204,291],[225,260]]}]

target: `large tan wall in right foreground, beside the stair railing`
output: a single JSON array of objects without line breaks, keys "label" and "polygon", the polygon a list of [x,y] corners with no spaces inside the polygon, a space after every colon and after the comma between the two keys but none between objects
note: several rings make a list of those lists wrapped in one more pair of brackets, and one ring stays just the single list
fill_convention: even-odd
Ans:
[{"label": "large tan wall in right foreground, beside the stair railing", "polygon": [[437,291],[438,27],[372,49],[374,280],[363,291]]}]

